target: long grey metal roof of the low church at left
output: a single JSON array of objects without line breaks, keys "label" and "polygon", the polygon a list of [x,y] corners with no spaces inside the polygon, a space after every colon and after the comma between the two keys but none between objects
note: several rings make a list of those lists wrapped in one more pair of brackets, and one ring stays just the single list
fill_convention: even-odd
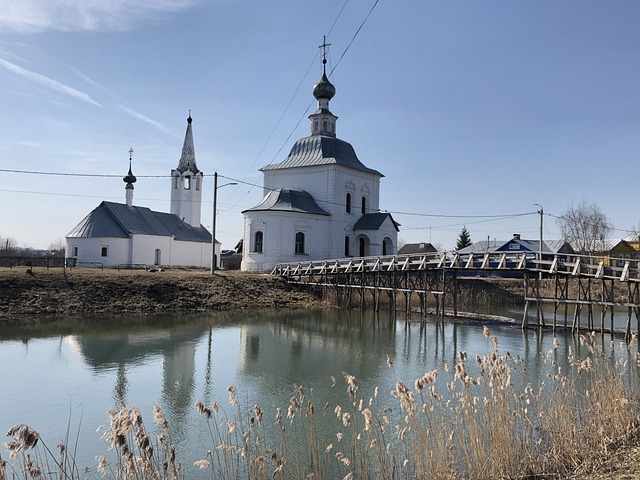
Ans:
[{"label": "long grey metal roof of the low church at left", "polygon": [[130,238],[132,235],[155,235],[174,237],[180,241],[211,243],[211,233],[202,225],[193,227],[172,213],[114,202],[102,202],[67,237]]}]

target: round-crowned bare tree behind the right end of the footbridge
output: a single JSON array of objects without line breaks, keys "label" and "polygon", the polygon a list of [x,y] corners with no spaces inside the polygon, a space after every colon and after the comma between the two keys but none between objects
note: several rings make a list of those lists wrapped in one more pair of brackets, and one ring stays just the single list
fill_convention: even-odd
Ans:
[{"label": "round-crowned bare tree behind the right end of the footbridge", "polygon": [[578,253],[602,250],[603,240],[613,227],[607,216],[595,203],[582,200],[571,206],[558,218],[562,238]]}]

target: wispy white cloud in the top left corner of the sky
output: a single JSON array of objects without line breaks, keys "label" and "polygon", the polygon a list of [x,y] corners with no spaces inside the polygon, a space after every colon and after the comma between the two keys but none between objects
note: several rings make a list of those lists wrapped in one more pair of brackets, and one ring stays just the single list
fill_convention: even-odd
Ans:
[{"label": "wispy white cloud in the top left corner of the sky", "polygon": [[199,0],[2,0],[0,28],[20,32],[122,31]]}]

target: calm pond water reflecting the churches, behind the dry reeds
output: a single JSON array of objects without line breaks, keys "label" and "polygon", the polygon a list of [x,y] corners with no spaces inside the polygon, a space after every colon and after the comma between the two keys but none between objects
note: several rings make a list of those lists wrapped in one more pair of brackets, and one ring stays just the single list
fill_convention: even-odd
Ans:
[{"label": "calm pond water reflecting the churches, behind the dry reeds", "polygon": [[[197,400],[229,408],[227,389],[234,385],[241,406],[259,403],[265,415],[273,415],[277,407],[286,412],[301,385],[317,405],[333,405],[346,398],[343,372],[358,379],[363,396],[379,387],[388,397],[397,379],[413,385],[425,372],[454,365],[460,351],[470,357],[491,352],[483,325],[497,336],[501,352],[522,358],[526,380],[544,374],[541,358],[554,345],[550,331],[479,321],[410,322],[390,312],[172,314],[5,327],[0,329],[0,429],[4,434],[27,424],[50,448],[68,434],[78,445],[78,465],[92,473],[96,457],[107,454],[97,431],[108,423],[107,411],[121,403],[136,406],[152,429],[157,404],[171,425],[187,478],[197,478],[193,462],[213,449],[194,408]],[[577,337],[563,332],[556,337],[559,356],[569,348],[580,351]],[[602,344],[622,355],[637,351],[637,345],[616,348],[621,341],[606,336]]]}]

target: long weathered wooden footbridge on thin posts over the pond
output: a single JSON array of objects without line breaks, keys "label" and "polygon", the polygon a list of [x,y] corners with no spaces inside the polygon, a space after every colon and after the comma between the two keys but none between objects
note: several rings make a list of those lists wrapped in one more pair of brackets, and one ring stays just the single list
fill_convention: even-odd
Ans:
[{"label": "long weathered wooden footbridge on thin posts over the pond", "polygon": [[[346,302],[351,307],[359,304],[364,309],[369,303],[377,311],[380,297],[387,295],[393,310],[398,308],[398,298],[402,302],[404,297],[408,315],[415,309],[423,316],[433,313],[437,317],[445,316],[446,304],[451,306],[452,315],[458,316],[461,279],[520,279],[524,295],[522,328],[562,327],[572,332],[599,329],[613,333],[617,309],[626,313],[624,334],[630,339],[632,319],[635,317],[637,332],[640,316],[638,262],[610,261],[602,256],[559,254],[540,259],[535,253],[437,252],[278,264],[272,275],[289,283],[332,289],[340,304]],[[552,319],[545,318],[545,304],[547,312],[549,306],[553,307]],[[532,309],[536,310],[535,322],[529,319]]]}]

